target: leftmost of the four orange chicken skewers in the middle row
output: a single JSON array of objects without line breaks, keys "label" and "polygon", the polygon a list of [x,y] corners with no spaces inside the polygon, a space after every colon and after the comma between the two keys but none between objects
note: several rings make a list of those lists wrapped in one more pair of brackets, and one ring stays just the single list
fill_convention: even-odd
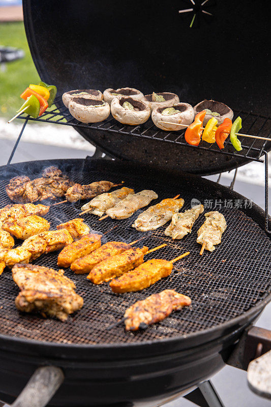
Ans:
[{"label": "leftmost of the four orange chicken skewers in the middle row", "polygon": [[58,254],[57,266],[69,267],[79,257],[83,257],[98,249],[101,246],[101,238],[102,235],[89,234],[64,247]]}]

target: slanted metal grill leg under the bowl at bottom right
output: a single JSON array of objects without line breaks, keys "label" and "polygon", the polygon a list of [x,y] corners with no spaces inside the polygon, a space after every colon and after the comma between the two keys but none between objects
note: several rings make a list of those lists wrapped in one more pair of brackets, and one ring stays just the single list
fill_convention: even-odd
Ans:
[{"label": "slanted metal grill leg under the bowl at bottom right", "polygon": [[197,389],[187,394],[185,398],[199,407],[224,407],[216,389],[209,380],[201,383]]}]

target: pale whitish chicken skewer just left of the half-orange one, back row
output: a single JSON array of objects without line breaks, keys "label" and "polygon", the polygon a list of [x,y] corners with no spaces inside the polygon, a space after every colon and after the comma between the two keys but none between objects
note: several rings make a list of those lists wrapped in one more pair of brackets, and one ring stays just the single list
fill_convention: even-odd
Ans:
[{"label": "pale whitish chicken skewer just left of the half-orange one, back row", "polygon": [[112,219],[127,219],[138,209],[146,207],[150,201],[157,198],[156,192],[144,189],[134,195],[128,195],[121,202],[118,202],[116,206],[108,209],[106,214]]}]

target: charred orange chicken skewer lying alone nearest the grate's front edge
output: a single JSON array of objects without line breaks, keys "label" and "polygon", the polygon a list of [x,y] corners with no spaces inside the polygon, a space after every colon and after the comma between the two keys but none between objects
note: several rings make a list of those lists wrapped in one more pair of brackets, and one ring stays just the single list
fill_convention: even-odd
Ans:
[{"label": "charred orange chicken skewer lying alone nearest the grate's front edge", "polygon": [[165,289],[127,308],[124,314],[125,329],[126,331],[146,329],[148,325],[163,321],[171,312],[179,311],[190,304],[189,297],[173,289]]}]

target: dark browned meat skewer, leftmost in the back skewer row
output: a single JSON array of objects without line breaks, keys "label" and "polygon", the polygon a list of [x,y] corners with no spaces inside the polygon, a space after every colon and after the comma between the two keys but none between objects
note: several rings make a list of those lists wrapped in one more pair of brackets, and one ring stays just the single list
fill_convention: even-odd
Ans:
[{"label": "dark browned meat skewer, leftmost in the back skewer row", "polygon": [[65,196],[69,202],[76,202],[79,199],[91,199],[109,191],[113,185],[113,182],[109,181],[97,181],[88,185],[74,184],[67,190]]}]

